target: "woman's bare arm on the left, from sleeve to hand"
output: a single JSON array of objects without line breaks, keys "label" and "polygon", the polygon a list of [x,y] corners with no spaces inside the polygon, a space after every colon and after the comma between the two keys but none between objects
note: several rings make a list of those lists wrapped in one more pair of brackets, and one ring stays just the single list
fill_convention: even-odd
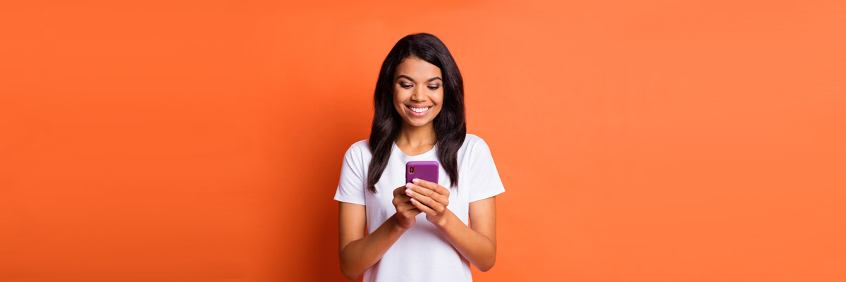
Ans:
[{"label": "woman's bare arm on the left, from sleeve to hand", "polygon": [[393,192],[393,204],[397,213],[387,218],[370,235],[365,235],[367,214],[365,206],[340,202],[338,206],[338,239],[340,248],[341,273],[347,279],[355,279],[363,274],[385,255],[400,235],[414,226],[415,216],[420,210],[409,202],[409,197],[403,194],[405,186]]}]

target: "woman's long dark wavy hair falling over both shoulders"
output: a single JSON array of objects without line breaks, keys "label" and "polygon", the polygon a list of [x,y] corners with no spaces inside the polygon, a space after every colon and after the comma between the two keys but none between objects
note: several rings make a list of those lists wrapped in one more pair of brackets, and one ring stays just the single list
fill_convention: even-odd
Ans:
[{"label": "woman's long dark wavy hair falling over both shoulders", "polygon": [[382,178],[388,158],[391,157],[393,142],[402,126],[402,117],[393,108],[393,75],[397,65],[404,58],[416,57],[441,69],[443,80],[443,102],[441,112],[434,123],[437,138],[437,159],[449,175],[450,186],[458,189],[458,152],[467,134],[464,118],[464,80],[453,55],[440,39],[428,33],[405,36],[387,53],[376,91],[373,95],[373,125],[371,127],[370,149],[373,155],[367,173],[367,190],[376,193],[376,182]]}]

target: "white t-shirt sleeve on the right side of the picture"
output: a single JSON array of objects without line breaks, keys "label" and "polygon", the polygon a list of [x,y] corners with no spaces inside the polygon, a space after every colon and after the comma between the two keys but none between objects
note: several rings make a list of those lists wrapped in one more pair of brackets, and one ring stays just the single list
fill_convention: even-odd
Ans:
[{"label": "white t-shirt sleeve on the right side of the picture", "polygon": [[476,142],[470,152],[470,198],[469,202],[483,200],[505,191],[503,180],[499,179],[497,166],[493,163],[491,149],[484,140]]}]

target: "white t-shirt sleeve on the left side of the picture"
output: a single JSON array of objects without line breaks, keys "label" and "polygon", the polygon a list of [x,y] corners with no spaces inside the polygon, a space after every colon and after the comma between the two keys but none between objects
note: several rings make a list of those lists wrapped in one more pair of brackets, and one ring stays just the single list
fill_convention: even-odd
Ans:
[{"label": "white t-shirt sleeve on the left side of the picture", "polygon": [[359,151],[360,148],[354,144],[343,154],[341,179],[338,180],[338,190],[335,191],[335,200],[360,205],[365,204],[365,170],[363,158]]}]

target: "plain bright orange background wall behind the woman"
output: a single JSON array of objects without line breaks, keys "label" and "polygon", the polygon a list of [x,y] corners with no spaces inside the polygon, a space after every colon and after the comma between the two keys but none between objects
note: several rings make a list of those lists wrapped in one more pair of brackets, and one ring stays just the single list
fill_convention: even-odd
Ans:
[{"label": "plain bright orange background wall behind the woman", "polygon": [[416,32],[506,187],[475,280],[846,280],[842,1],[0,5],[3,282],[343,280],[343,152]]}]

